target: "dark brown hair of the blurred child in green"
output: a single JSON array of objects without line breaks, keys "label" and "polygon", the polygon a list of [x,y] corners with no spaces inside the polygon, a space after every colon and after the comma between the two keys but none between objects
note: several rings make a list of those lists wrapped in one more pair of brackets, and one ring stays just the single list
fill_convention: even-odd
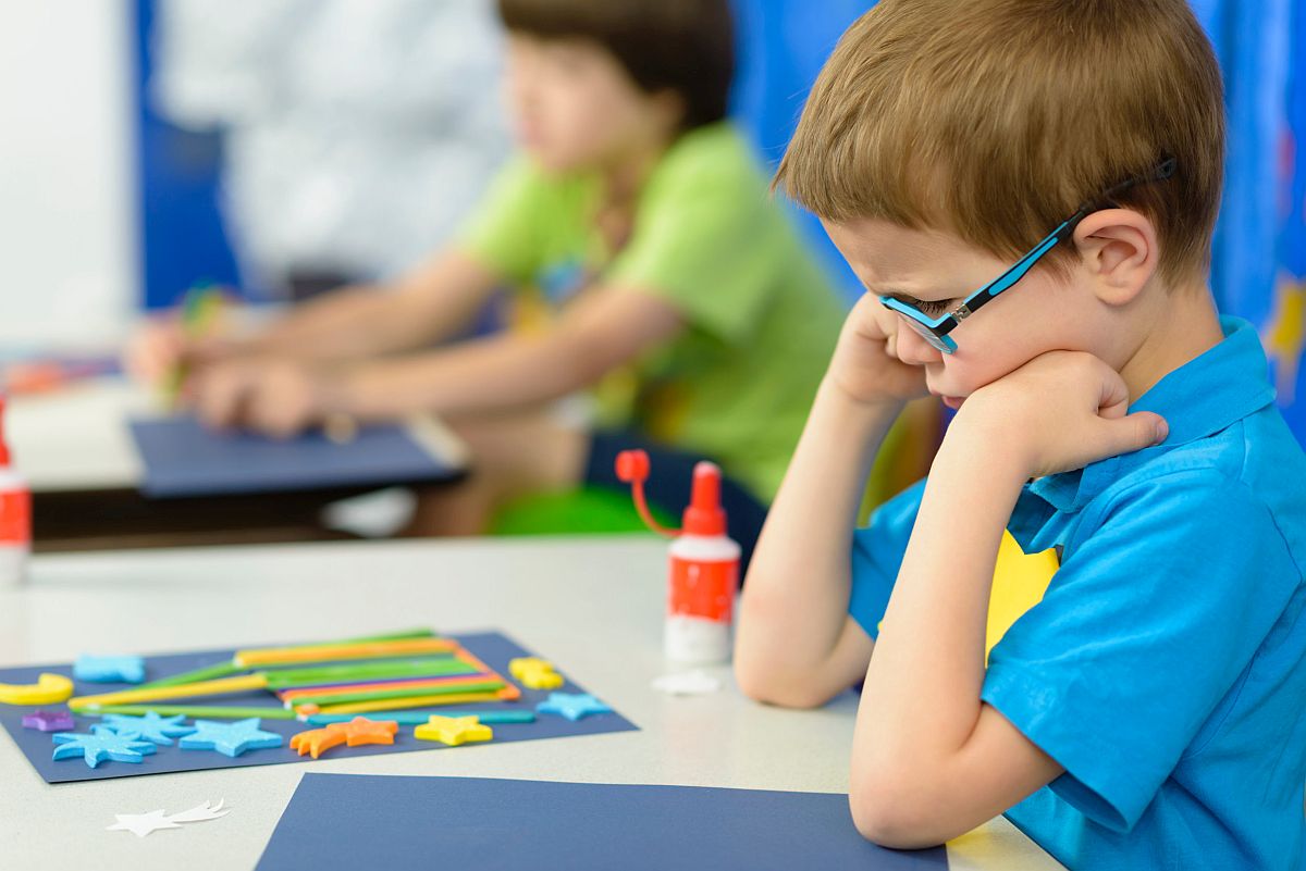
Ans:
[{"label": "dark brown hair of the blurred child in green", "polygon": [[645,93],[679,94],[686,130],[726,115],[734,76],[727,0],[499,0],[499,16],[508,30],[597,42]]}]

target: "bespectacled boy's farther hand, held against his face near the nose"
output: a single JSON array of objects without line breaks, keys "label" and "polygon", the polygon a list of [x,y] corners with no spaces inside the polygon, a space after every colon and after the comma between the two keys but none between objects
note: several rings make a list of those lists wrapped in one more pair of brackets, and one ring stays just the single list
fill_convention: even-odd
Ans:
[{"label": "bespectacled boy's farther hand, held against his face near the nose", "polygon": [[853,400],[908,402],[929,394],[925,369],[902,362],[889,349],[899,326],[897,316],[871,293],[853,306],[829,364],[829,378]]}]

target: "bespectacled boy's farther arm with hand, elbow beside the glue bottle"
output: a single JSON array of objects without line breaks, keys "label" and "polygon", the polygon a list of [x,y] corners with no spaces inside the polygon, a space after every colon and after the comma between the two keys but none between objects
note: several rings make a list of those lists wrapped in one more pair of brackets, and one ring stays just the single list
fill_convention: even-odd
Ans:
[{"label": "bespectacled boy's farther arm with hand, elbow beside the glue bottle", "polygon": [[887,352],[874,296],[849,314],[739,605],[735,675],[761,701],[814,707],[865,674],[871,639],[848,615],[850,549],[871,462],[923,374]]}]

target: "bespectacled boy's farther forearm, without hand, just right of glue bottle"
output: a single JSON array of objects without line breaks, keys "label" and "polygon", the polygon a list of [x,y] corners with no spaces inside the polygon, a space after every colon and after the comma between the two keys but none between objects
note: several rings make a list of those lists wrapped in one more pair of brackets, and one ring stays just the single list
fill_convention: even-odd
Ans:
[{"label": "bespectacled boy's farther forearm, without hand, just right of glue bottle", "polygon": [[786,683],[810,687],[832,653],[848,619],[849,552],[866,479],[901,408],[821,383],[741,600],[735,668],[754,695],[782,701]]}]

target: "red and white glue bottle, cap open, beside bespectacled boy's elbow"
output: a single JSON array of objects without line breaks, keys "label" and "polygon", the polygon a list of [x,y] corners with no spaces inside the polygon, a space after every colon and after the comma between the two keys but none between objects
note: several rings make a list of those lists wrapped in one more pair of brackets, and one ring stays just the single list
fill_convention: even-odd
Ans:
[{"label": "red and white glue bottle, cap open, beside bespectacled boy's elbow", "polygon": [[622,451],[616,456],[616,477],[631,485],[644,523],[674,539],[662,636],[666,657],[695,665],[727,662],[741,550],[726,536],[721,469],[707,462],[693,467],[693,492],[682,529],[667,529],[649,514],[644,499],[648,475],[649,458],[644,451]]}]

